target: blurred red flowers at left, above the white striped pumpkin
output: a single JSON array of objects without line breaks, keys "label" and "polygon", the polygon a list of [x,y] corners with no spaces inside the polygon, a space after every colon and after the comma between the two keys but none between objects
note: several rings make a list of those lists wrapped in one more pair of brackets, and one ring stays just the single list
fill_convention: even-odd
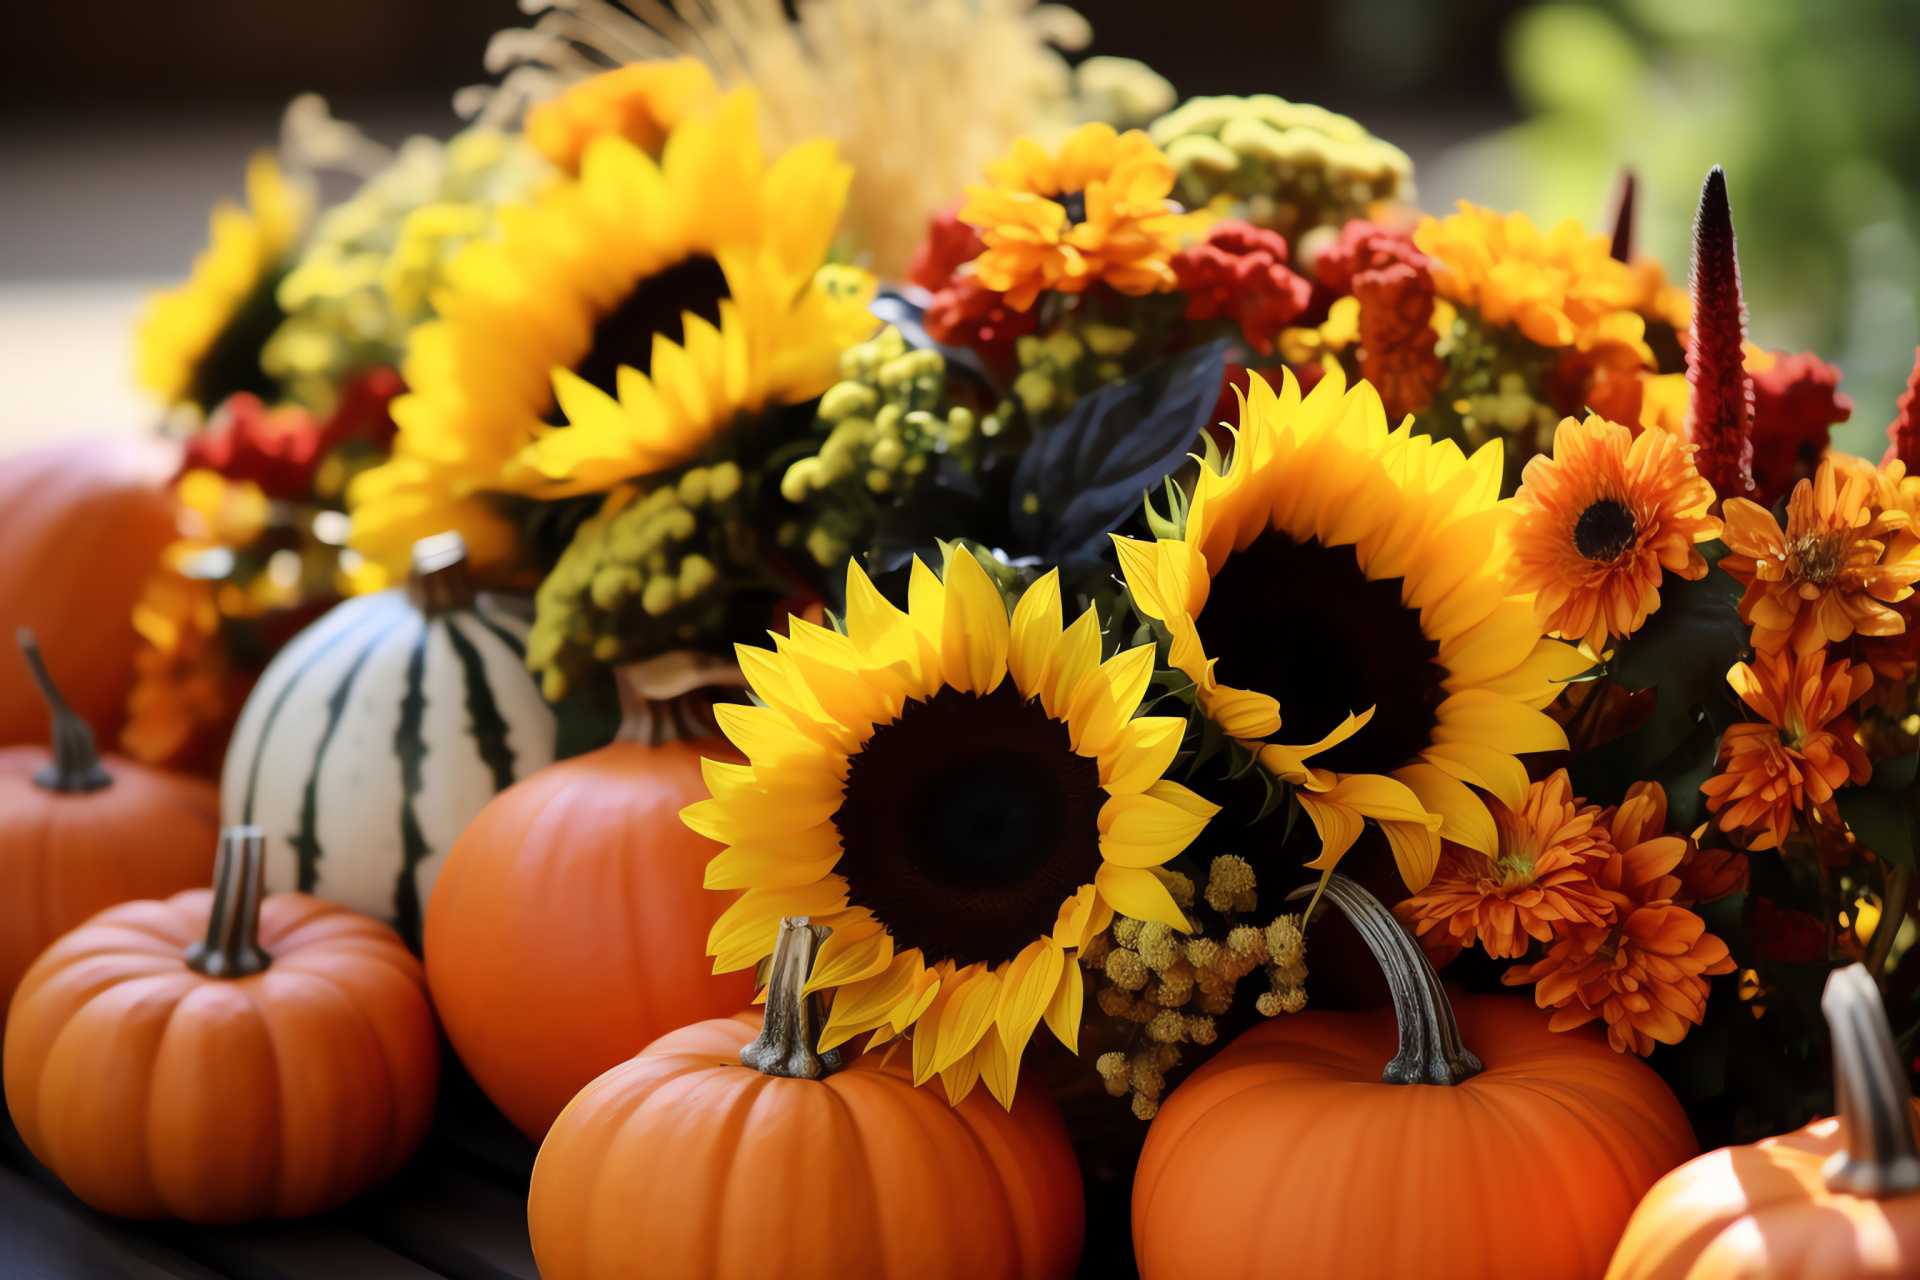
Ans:
[{"label": "blurred red flowers at left, above the white striped pumpkin", "polygon": [[313,486],[313,468],[348,439],[384,449],[394,439],[388,405],[405,390],[392,368],[351,380],[326,422],[305,409],[269,409],[250,391],[221,405],[213,426],[186,441],[180,470],[211,470],[228,480],[252,480],[267,497],[298,501]]}]

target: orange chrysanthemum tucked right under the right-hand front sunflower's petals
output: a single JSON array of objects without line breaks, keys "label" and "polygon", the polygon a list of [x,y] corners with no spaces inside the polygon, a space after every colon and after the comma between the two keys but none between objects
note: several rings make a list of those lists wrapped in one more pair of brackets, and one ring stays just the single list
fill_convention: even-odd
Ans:
[{"label": "orange chrysanthemum tucked right under the right-hand front sunflower's petals", "polygon": [[[1427,889],[1394,908],[1421,946],[1448,960],[1475,940],[1496,960],[1519,960],[1526,938],[1553,940],[1555,923],[1603,925],[1613,904],[1594,887],[1594,864],[1613,858],[1597,804],[1580,804],[1567,770],[1534,783],[1526,806],[1488,796],[1500,856],[1448,842]],[[1428,940],[1440,925],[1442,936]]]}]

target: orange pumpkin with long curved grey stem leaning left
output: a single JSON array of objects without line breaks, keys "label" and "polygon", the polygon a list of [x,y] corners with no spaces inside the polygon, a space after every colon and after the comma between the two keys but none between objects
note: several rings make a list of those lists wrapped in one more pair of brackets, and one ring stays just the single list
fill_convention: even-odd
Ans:
[{"label": "orange pumpkin with long curved grey stem leaning left", "polygon": [[1697,1151],[1680,1103],[1523,1000],[1450,1006],[1373,894],[1334,875],[1325,896],[1394,1006],[1261,1023],[1173,1090],[1133,1182],[1140,1276],[1597,1276],[1645,1188]]}]

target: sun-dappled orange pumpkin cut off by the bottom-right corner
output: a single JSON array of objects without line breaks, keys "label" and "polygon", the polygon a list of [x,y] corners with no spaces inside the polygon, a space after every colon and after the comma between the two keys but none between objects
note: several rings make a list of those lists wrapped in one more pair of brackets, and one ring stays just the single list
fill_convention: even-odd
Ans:
[{"label": "sun-dappled orange pumpkin cut off by the bottom-right corner", "polygon": [[1920,1155],[1907,1069],[1864,965],[1820,1000],[1839,1115],[1674,1169],[1626,1224],[1607,1280],[1912,1280]]}]

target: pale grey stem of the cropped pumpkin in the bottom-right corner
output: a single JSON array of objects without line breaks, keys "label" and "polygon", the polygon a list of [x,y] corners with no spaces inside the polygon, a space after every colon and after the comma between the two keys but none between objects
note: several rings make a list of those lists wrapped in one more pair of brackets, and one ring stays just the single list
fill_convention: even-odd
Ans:
[{"label": "pale grey stem of the cropped pumpkin in the bottom-right corner", "polygon": [[1866,965],[1830,973],[1820,1011],[1834,1038],[1834,1105],[1847,1130],[1847,1150],[1822,1171],[1828,1190],[1876,1199],[1920,1190],[1907,1071]]}]

